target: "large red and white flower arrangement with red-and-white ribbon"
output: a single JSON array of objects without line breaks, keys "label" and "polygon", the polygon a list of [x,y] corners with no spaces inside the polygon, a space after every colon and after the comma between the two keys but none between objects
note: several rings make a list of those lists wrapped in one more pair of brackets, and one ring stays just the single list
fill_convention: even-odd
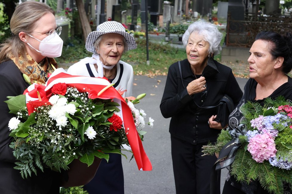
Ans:
[{"label": "large red and white flower arrangement with red-and-white ribbon", "polygon": [[131,147],[139,169],[151,170],[141,143],[146,114],[134,107],[145,94],[125,101],[106,79],[55,72],[46,86],[31,85],[6,101],[16,114],[8,127],[21,176],[31,176],[36,168],[67,170],[73,159],[89,166],[94,157],[122,154],[122,145]]}]

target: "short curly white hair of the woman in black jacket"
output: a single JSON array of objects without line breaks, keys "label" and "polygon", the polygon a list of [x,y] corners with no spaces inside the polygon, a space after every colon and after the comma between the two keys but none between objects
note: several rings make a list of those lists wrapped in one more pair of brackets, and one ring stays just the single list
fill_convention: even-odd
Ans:
[{"label": "short curly white hair of the woman in black jacket", "polygon": [[206,22],[205,20],[195,21],[188,27],[187,31],[185,31],[185,34],[182,36],[182,43],[185,47],[188,44],[190,34],[193,32],[202,35],[204,37],[204,40],[210,44],[210,48],[208,50],[209,53],[214,53],[214,55],[220,53],[220,51],[222,50],[220,42],[223,34],[219,32],[217,26]]}]

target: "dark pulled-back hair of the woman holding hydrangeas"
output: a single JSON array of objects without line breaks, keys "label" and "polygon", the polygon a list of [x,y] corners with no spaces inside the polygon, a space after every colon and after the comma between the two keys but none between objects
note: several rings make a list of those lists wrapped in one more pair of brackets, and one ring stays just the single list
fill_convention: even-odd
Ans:
[{"label": "dark pulled-back hair of the woman holding hydrangeas", "polygon": [[272,31],[262,31],[256,35],[255,40],[265,40],[271,43],[270,53],[274,59],[277,57],[283,57],[284,62],[282,65],[282,71],[287,74],[292,69],[292,35],[287,32],[285,35],[280,35]]}]

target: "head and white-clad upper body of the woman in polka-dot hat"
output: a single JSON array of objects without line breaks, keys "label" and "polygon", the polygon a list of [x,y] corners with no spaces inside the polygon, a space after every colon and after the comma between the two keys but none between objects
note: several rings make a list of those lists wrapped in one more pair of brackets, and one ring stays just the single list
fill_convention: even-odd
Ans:
[{"label": "head and white-clad upper body of the woman in polka-dot hat", "polygon": [[116,21],[107,21],[90,32],[85,43],[92,57],[86,57],[70,66],[68,73],[90,77],[106,77],[123,97],[132,95],[133,68],[121,61],[123,52],[137,48],[135,39]]}]

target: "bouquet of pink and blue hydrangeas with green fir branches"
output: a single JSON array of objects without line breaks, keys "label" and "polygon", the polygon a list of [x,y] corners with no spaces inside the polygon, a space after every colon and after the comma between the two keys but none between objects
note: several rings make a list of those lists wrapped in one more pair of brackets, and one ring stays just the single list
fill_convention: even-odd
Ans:
[{"label": "bouquet of pink and blue hydrangeas with green fir branches", "polygon": [[232,158],[232,151],[224,155],[224,150],[237,148],[229,168],[237,181],[249,184],[257,180],[269,192],[283,193],[283,185],[292,185],[291,101],[267,98],[264,106],[247,102],[240,110],[245,116],[244,125],[229,132],[223,130],[216,145],[205,146],[204,152],[214,154],[222,149],[217,160],[221,168]]}]

